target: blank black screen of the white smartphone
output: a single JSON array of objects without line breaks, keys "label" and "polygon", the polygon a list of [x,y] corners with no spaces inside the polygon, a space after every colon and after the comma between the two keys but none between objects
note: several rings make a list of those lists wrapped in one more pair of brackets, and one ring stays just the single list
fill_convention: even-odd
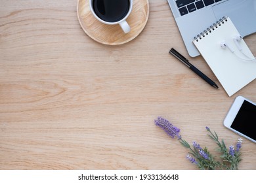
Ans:
[{"label": "blank black screen of the white smartphone", "polygon": [[256,141],[256,105],[244,101],[230,127]]}]

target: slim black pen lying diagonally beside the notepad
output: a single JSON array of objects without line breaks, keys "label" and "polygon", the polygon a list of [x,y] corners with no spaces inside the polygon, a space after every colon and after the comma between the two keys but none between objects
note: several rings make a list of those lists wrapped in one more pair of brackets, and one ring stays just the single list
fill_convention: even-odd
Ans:
[{"label": "slim black pen lying diagonally beside the notepad", "polygon": [[179,59],[179,61],[181,61],[182,63],[184,63],[189,69],[191,69],[192,71],[194,71],[194,73],[196,73],[198,76],[200,76],[203,80],[205,80],[207,83],[209,83],[211,86],[213,86],[214,88],[219,88],[217,86],[217,84],[215,82],[213,82],[210,78],[208,78],[207,76],[205,76],[201,71],[199,71],[196,67],[194,67],[194,65],[192,65],[188,59],[184,58],[184,56],[182,56],[181,54],[179,54],[179,52],[177,52],[175,49],[171,48],[171,50],[169,51],[170,54],[172,54],[173,56],[175,56],[175,58]]}]

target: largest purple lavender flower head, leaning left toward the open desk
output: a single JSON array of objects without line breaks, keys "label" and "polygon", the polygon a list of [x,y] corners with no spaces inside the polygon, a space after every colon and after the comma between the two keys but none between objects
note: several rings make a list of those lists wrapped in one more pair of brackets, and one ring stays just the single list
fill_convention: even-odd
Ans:
[{"label": "largest purple lavender flower head, leaning left toward the open desk", "polygon": [[171,138],[175,138],[175,136],[178,139],[181,139],[181,135],[179,135],[179,132],[181,129],[178,127],[175,127],[173,124],[171,124],[168,120],[162,117],[158,117],[157,120],[154,121],[156,125],[161,127]]}]

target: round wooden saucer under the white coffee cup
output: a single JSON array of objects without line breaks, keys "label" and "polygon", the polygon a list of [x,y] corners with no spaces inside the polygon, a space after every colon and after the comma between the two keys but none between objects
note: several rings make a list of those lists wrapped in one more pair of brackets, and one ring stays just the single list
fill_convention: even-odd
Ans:
[{"label": "round wooden saucer under the white coffee cup", "polygon": [[102,44],[118,45],[135,39],[144,29],[148,16],[148,0],[133,0],[133,9],[127,18],[131,31],[125,34],[118,24],[106,25],[96,20],[91,13],[88,0],[77,1],[77,17],[83,31],[89,37]]}]

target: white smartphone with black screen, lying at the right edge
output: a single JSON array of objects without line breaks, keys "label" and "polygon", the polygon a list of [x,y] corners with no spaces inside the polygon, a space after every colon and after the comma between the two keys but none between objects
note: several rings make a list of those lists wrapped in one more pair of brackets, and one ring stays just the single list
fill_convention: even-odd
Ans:
[{"label": "white smartphone with black screen, lying at the right edge", "polygon": [[256,104],[238,96],[223,122],[224,126],[256,143]]}]

